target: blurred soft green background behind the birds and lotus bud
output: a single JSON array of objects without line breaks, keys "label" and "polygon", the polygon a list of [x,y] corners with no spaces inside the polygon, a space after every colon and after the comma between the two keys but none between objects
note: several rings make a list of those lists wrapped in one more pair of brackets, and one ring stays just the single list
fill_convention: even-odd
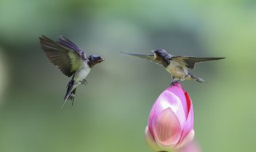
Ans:
[{"label": "blurred soft green background behind the birds and lotus bud", "polygon": [[[62,34],[106,61],[61,105],[70,80],[40,49]],[[226,57],[182,82],[202,151],[255,151],[255,0],[0,0],[0,151],[151,151],[144,130],[170,84],[161,66],[120,51]]]}]

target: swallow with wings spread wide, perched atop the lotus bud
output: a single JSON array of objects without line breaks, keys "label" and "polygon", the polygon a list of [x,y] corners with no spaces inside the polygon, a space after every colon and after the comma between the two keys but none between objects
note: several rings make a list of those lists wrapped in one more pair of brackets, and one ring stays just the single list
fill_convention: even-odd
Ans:
[{"label": "swallow with wings spread wide, perched atop the lotus bud", "polygon": [[[194,74],[188,72],[189,69],[194,69],[194,65],[198,62],[206,62],[212,60],[219,60],[222,58],[198,58],[198,57],[186,57],[186,56],[173,56],[168,54],[166,50],[158,49],[152,50],[154,54],[129,54],[139,58],[145,58],[151,62],[156,62],[161,66],[164,66],[166,70],[172,75],[172,84],[178,81],[184,80],[196,80],[198,82],[206,82],[202,78],[196,77]],[[124,53],[123,54],[128,54]]]}]

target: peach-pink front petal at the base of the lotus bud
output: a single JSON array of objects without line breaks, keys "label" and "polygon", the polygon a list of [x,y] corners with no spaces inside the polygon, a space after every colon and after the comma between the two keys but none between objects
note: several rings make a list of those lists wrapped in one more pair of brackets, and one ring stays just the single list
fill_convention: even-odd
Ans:
[{"label": "peach-pink front petal at the base of the lotus bud", "polygon": [[154,126],[154,138],[158,146],[173,148],[181,134],[181,126],[174,111],[170,107],[163,110]]}]

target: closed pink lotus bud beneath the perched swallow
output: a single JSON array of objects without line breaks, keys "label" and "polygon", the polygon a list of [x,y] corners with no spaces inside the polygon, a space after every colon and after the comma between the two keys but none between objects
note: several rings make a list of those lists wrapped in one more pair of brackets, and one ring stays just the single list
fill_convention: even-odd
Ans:
[{"label": "closed pink lotus bud beneath the perched swallow", "polygon": [[146,143],[154,151],[178,150],[194,138],[190,95],[176,82],[160,94],[150,111]]}]

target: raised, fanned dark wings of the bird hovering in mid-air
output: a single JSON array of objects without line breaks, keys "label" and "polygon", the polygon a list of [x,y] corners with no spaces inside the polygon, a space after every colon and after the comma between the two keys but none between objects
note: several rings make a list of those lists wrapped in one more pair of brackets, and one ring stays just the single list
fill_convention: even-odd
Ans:
[{"label": "raised, fanned dark wings of the bird hovering in mid-air", "polygon": [[42,50],[50,62],[58,66],[58,69],[68,77],[74,74],[74,71],[78,70],[82,62],[86,60],[85,52],[67,38],[61,36],[57,42],[54,42],[42,35],[39,39]]}]

